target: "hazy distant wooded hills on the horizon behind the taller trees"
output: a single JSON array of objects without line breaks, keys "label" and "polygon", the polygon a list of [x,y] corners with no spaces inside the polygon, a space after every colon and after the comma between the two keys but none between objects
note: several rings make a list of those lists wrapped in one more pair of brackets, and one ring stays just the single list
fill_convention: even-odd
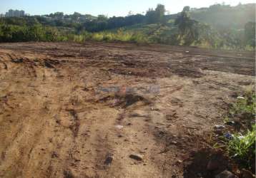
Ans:
[{"label": "hazy distant wooded hills on the horizon behind the taller trees", "polygon": [[[215,4],[207,8],[192,8],[190,10],[190,16],[192,19],[207,23],[219,30],[227,28],[239,30],[245,28],[245,23],[248,21],[255,21],[255,6],[256,4],[239,4],[237,6]],[[177,16],[179,16],[179,14],[166,15],[164,16],[164,19],[170,21],[177,19]],[[14,25],[41,23],[46,26],[68,27],[94,32],[148,22],[147,16],[143,16],[142,14],[108,18],[107,16],[102,15],[83,15],[77,12],[71,15],[56,12],[44,16],[1,18],[0,23]]]}]

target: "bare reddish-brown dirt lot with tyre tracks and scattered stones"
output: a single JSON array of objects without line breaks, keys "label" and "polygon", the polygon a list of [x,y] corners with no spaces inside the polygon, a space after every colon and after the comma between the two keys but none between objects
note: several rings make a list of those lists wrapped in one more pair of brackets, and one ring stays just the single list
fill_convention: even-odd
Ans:
[{"label": "bare reddish-brown dirt lot with tyre tracks and scattered stones", "polygon": [[255,82],[252,52],[123,43],[1,43],[0,71],[0,177],[196,177]]}]

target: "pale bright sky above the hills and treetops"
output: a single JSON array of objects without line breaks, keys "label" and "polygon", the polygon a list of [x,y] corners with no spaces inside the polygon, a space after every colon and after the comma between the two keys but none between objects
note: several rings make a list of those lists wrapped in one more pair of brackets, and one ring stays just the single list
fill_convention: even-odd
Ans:
[{"label": "pale bright sky above the hills and treetops", "polygon": [[126,16],[129,11],[133,14],[142,14],[157,4],[164,4],[170,14],[182,11],[184,6],[207,7],[215,3],[230,4],[254,3],[255,0],[0,0],[0,14],[5,14],[9,9],[24,10],[31,15],[51,14],[62,11],[64,14],[81,14],[97,16]]}]

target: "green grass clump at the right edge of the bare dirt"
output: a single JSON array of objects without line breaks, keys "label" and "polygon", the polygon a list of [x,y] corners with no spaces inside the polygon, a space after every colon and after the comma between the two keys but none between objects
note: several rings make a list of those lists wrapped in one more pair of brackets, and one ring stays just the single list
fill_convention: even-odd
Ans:
[{"label": "green grass clump at the right edge of the bare dirt", "polygon": [[[225,141],[225,147],[230,158],[234,159],[240,167],[253,170],[255,163],[256,138],[256,95],[253,90],[237,97],[232,103],[228,117],[224,122],[236,120],[236,125],[242,125],[243,130],[235,131],[232,139]],[[237,121],[237,118],[239,120]]]}]

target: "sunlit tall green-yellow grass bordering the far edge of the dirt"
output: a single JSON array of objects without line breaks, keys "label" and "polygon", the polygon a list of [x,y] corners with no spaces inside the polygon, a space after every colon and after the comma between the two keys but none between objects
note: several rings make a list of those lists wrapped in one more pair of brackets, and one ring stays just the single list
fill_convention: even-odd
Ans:
[{"label": "sunlit tall green-yellow grass bordering the far edge of the dirt", "polygon": [[[202,48],[238,48],[234,44],[226,43],[227,39],[216,35],[204,35],[202,31],[200,39],[194,40],[190,46]],[[210,33],[211,34],[211,33]],[[0,24],[0,42],[21,41],[125,41],[134,43],[164,43],[168,45],[184,45],[184,39],[180,38],[179,29],[173,23],[137,24],[126,28],[113,29],[90,33],[88,31],[75,31],[69,28],[56,28],[51,26],[17,26]],[[242,45],[242,44],[240,44]],[[241,47],[241,46],[240,46]],[[242,48],[242,47],[241,47]],[[250,46],[243,46],[246,50],[255,50]]]}]

